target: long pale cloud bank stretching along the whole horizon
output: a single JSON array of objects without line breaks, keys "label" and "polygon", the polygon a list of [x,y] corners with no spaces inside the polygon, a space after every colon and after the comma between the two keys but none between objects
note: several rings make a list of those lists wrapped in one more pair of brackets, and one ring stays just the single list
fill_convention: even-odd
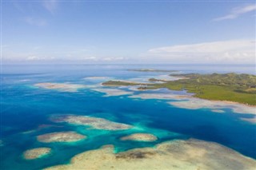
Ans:
[{"label": "long pale cloud bank stretching along the whole horizon", "polygon": [[[22,46],[14,48],[2,45],[2,59],[4,61],[49,61],[54,63],[255,64],[255,45],[255,40],[170,45],[148,49],[141,55],[130,57],[97,55],[86,50],[70,49],[60,52],[58,49],[49,50],[47,47],[40,46],[24,49]],[[69,53],[70,51],[75,53]]]}]

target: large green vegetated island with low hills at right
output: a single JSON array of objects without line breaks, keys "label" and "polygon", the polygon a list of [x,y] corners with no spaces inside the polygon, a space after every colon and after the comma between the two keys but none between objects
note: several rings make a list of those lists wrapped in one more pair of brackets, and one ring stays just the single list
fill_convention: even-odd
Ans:
[{"label": "large green vegetated island with low hills at right", "polygon": [[[214,101],[234,101],[246,105],[256,105],[256,76],[238,73],[212,74],[170,74],[174,77],[184,77],[176,81],[162,81],[161,84],[142,84],[126,81],[106,81],[102,85],[141,85],[138,89],[172,90],[186,89],[194,93],[194,97]],[[149,81],[161,81],[151,78]]]}]

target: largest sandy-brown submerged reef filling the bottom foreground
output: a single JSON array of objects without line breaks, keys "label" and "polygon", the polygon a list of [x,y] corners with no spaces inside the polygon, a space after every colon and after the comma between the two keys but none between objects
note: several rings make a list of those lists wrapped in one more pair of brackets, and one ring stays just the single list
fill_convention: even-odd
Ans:
[{"label": "largest sandy-brown submerged reef filling the bottom foreground", "polygon": [[70,164],[54,169],[226,169],[253,170],[256,161],[220,144],[202,140],[173,140],[154,148],[114,153],[114,146],[82,152]]}]

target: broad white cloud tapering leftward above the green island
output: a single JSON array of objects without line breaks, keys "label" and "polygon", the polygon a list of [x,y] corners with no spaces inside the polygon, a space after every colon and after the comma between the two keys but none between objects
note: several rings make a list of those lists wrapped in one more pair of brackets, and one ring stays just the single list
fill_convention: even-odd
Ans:
[{"label": "broad white cloud tapering leftward above the green island", "polygon": [[233,40],[172,45],[149,49],[144,57],[174,63],[248,63],[255,62],[255,41]]}]

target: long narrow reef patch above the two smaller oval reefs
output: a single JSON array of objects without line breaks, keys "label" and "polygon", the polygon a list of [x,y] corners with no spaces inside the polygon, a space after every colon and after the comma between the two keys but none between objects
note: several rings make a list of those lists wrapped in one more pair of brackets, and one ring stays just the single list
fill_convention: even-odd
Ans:
[{"label": "long narrow reef patch above the two smaller oval reefs", "polygon": [[91,126],[91,128],[104,130],[126,130],[133,127],[131,125],[108,121],[103,118],[78,115],[54,115],[50,117],[50,121],[66,122],[73,125],[86,125]]}]

